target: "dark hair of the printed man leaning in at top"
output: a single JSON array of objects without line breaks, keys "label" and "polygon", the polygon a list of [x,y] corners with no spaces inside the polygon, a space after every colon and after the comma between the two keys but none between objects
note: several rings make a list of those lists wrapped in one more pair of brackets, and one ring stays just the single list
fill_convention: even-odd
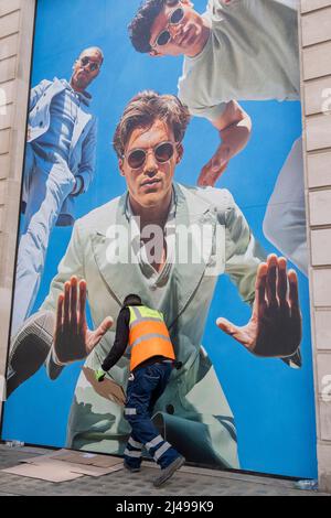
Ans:
[{"label": "dark hair of the printed man leaning in at top", "polygon": [[147,53],[151,51],[151,28],[156,18],[163,9],[166,0],[147,0],[128,26],[129,36],[136,51]]}]

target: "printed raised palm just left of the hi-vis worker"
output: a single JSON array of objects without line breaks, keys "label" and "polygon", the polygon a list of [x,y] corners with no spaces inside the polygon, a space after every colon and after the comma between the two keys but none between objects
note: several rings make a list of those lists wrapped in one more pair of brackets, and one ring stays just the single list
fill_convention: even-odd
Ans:
[{"label": "printed raised palm just left of the hi-vis worker", "polygon": [[86,324],[86,281],[72,277],[64,284],[64,293],[58,295],[56,328],[54,336],[54,353],[62,364],[77,361],[86,358],[102,337],[113,325],[108,316],[98,326],[90,331]]}]

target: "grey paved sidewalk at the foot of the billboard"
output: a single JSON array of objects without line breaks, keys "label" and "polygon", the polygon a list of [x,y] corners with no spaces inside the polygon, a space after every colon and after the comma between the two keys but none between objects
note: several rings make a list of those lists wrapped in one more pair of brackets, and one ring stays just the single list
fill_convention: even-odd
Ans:
[{"label": "grey paved sidewalk at the foot of the billboard", "polygon": [[97,478],[84,476],[64,483],[50,483],[1,471],[46,453],[50,450],[0,444],[0,496],[331,496],[298,490],[293,481],[191,466],[181,467],[164,486],[157,489],[152,482],[158,476],[159,467],[149,462],[142,463],[140,473],[121,470]]}]

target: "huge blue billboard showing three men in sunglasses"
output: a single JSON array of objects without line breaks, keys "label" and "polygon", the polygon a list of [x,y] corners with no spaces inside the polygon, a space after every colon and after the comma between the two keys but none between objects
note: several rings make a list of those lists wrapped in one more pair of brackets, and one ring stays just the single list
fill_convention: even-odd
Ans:
[{"label": "huge blue billboard showing three men in sunglasses", "polygon": [[134,293],[162,440],[316,477],[298,3],[38,1],[2,439],[125,454]]}]

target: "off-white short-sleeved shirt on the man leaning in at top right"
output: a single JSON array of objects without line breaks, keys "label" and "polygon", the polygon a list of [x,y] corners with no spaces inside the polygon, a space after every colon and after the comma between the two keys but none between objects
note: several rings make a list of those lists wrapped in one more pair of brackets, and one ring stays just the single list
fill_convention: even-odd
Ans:
[{"label": "off-white short-sleeved shirt on the man leaning in at top right", "polygon": [[299,99],[297,0],[210,0],[210,39],[184,58],[179,97],[215,120],[235,100]]}]

